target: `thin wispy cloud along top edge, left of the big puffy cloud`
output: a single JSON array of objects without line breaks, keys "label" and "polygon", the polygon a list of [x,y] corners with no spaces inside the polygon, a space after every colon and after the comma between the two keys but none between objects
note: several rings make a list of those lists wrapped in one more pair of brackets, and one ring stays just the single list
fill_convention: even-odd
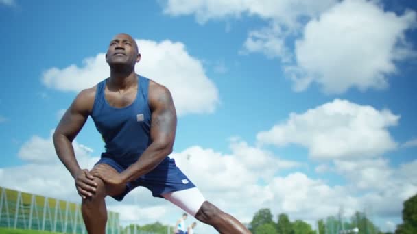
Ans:
[{"label": "thin wispy cloud along top edge, left of the big puffy cloud", "polygon": [[201,24],[246,15],[262,18],[269,26],[251,30],[240,52],[264,53],[267,57],[290,62],[293,55],[286,44],[287,37],[297,35],[306,18],[318,16],[335,3],[337,0],[169,0],[163,8],[165,14],[171,16],[194,14]]}]

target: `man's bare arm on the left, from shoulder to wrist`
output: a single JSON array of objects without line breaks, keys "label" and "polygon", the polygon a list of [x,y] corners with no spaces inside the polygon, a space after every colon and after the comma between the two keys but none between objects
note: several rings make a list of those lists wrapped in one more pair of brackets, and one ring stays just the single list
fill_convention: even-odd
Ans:
[{"label": "man's bare arm on the left, from shoulder to wrist", "polygon": [[75,159],[72,142],[84,126],[88,114],[91,112],[94,95],[95,90],[93,89],[80,92],[69,109],[67,109],[67,112],[62,116],[55,133],[53,133],[53,144],[56,154],[74,178],[81,168],[77,159]]}]

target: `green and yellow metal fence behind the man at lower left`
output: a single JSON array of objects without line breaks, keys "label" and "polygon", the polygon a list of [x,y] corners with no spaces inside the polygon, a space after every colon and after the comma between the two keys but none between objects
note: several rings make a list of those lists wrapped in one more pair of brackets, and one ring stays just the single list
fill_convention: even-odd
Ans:
[{"label": "green and yellow metal fence behind the man at lower left", "polygon": [[[86,233],[79,204],[0,188],[0,227]],[[106,233],[120,233],[119,213],[108,212]]]}]

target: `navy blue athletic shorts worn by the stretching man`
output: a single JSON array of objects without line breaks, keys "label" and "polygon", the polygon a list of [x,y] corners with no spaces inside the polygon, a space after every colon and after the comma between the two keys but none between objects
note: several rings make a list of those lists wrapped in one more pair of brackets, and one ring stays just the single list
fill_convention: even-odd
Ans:
[{"label": "navy blue athletic shorts worn by the stretching man", "polygon": [[[119,173],[126,170],[117,161],[109,157],[102,157],[102,159],[97,161],[97,164],[108,164]],[[112,196],[112,198],[121,201],[126,194],[138,186],[146,187],[152,192],[152,196],[160,198],[163,197],[161,194],[195,187],[187,176],[181,172],[180,168],[176,166],[175,160],[169,157],[166,157],[154,170],[144,174],[135,181],[127,183],[126,190],[117,196]]]}]

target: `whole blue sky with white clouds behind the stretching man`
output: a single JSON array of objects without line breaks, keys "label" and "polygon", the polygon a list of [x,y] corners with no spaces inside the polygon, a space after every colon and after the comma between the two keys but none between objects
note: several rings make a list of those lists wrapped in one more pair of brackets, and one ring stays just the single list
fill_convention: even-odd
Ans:
[{"label": "whole blue sky with white clouds behind the stretching man", "polygon": [[[263,207],[311,223],[368,209],[392,230],[417,192],[416,8],[1,0],[0,185],[78,201],[51,131],[80,90],[108,75],[108,42],[126,32],[142,53],[136,72],[174,96],[171,157],[208,200],[243,222]],[[80,164],[103,148],[90,119],[75,143]],[[109,207],[123,223],[169,224],[181,213],[145,190]]]}]

